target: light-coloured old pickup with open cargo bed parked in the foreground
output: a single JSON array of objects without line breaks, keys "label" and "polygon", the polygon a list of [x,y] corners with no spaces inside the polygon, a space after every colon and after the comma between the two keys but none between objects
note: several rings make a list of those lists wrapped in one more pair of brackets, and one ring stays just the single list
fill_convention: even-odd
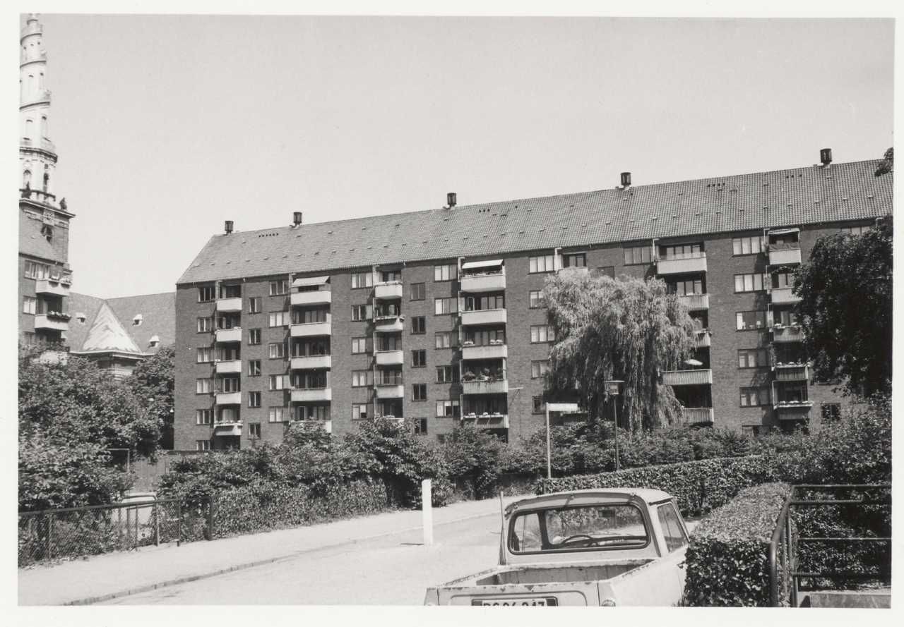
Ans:
[{"label": "light-coloured old pickup with open cargo bed parked in the foreground", "polygon": [[543,494],[505,508],[499,566],[430,587],[426,605],[675,605],[688,531],[660,490]]}]

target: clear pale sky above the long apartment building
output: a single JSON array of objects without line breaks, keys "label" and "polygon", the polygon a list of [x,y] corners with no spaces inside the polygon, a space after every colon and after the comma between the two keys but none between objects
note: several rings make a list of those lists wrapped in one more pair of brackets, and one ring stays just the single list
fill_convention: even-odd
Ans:
[{"label": "clear pale sky above the long apartment building", "polygon": [[[211,235],[876,159],[891,20],[42,14],[73,289]],[[303,268],[299,268],[302,271]]]}]

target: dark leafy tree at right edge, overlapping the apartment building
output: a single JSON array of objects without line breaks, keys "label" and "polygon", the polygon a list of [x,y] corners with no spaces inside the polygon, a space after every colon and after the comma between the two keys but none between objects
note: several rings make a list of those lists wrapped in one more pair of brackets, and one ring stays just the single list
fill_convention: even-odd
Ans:
[{"label": "dark leafy tree at right edge, overlapping the apartment building", "polygon": [[891,217],[862,235],[819,238],[795,275],[797,314],[819,381],[891,390]]}]

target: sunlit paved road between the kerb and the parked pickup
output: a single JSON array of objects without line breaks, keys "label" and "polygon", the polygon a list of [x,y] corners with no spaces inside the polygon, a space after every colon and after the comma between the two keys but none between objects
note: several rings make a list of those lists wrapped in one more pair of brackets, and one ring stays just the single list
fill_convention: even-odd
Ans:
[{"label": "sunlit paved road between the kerb and the parked pickup", "polygon": [[105,604],[419,605],[427,586],[494,566],[499,514],[439,525],[430,548],[421,541],[402,532]]}]

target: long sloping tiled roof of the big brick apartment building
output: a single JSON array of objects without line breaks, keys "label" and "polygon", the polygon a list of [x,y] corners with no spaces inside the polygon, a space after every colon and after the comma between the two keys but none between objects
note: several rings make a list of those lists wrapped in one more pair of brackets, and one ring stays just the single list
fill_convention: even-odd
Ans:
[{"label": "long sloping tiled roof of the big brick apartment building", "polygon": [[214,235],[178,283],[803,226],[891,212],[879,161]]}]

